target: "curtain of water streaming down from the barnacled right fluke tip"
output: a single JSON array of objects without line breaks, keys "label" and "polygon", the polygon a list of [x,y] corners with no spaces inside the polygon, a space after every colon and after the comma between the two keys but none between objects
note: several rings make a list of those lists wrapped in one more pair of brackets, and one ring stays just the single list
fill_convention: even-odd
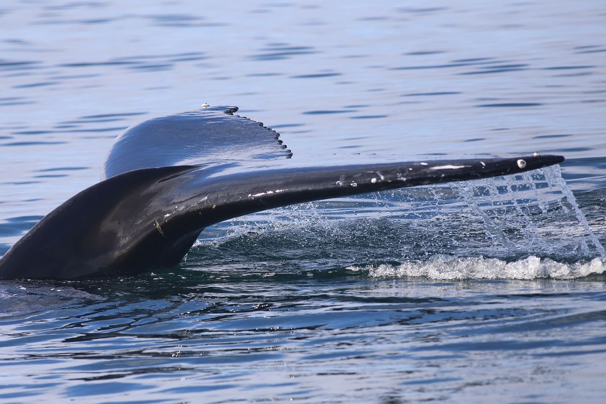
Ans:
[{"label": "curtain of water streaming down from the barnacled right fluke tip", "polygon": [[512,253],[606,256],[558,165],[454,187],[494,242]]}]

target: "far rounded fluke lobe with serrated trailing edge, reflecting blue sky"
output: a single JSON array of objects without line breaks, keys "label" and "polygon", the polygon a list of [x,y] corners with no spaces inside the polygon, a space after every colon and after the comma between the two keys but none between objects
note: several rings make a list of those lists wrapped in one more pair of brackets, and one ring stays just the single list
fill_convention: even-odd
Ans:
[{"label": "far rounded fluke lobe with serrated trailing edge, reflecting blue sky", "polygon": [[276,131],[235,115],[238,107],[206,107],[133,125],[114,141],[104,178],[138,168],[290,157]]}]

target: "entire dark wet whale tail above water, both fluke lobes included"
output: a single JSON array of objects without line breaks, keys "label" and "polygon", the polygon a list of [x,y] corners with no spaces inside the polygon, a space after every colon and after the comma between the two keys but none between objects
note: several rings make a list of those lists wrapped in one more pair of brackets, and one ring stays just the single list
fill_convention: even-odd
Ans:
[{"label": "entire dark wet whale tail above water, both fluke lobes included", "polygon": [[299,166],[278,133],[235,112],[150,119],[116,138],[102,180],[36,224],[0,279],[73,279],[178,265],[205,227],[311,200],[521,173],[562,156]]}]

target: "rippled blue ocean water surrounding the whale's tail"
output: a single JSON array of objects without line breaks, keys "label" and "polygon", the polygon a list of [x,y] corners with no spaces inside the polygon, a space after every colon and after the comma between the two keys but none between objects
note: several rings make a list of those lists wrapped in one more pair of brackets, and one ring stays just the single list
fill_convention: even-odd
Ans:
[{"label": "rippled blue ocean water surrounding the whale's tail", "polygon": [[299,161],[561,167],[281,208],[175,268],[0,282],[0,402],[567,403],[606,388],[603,1],[4,1],[0,254],[129,125],[204,102]]}]

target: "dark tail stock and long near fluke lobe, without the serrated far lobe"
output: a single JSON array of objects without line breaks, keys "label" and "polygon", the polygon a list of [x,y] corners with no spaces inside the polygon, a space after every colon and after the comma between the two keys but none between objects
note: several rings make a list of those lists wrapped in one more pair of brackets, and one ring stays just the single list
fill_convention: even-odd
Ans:
[{"label": "dark tail stock and long near fluke lobe, without the serrated far lobe", "polygon": [[[76,194],[0,260],[0,279],[71,279],[176,265],[208,225],[285,205],[521,173],[561,156],[297,167],[139,168]],[[291,161],[290,161],[291,162]]]}]

